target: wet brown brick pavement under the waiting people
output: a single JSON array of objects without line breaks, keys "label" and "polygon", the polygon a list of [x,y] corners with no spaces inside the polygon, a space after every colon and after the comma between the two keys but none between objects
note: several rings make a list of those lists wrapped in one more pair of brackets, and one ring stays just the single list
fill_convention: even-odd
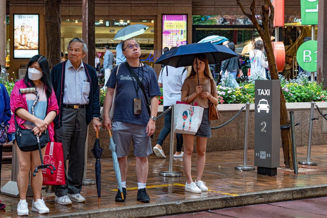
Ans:
[{"label": "wet brown brick pavement under the waiting people", "polygon": [[[242,164],[243,150],[208,152],[206,156],[206,166],[203,173],[203,181],[206,182],[210,191],[201,194],[188,193],[184,191],[185,177],[163,177],[159,176],[160,171],[168,169],[168,158],[158,159],[154,155],[149,157],[149,176],[147,181],[147,192],[151,198],[151,203],[169,202],[174,200],[195,199],[199,200],[207,196],[237,196],[242,193],[263,191],[271,189],[281,189],[290,187],[309,186],[317,184],[327,184],[327,155],[326,145],[312,147],[312,160],[319,163],[318,166],[304,166],[317,169],[316,171],[299,173],[294,175],[289,171],[278,170],[277,176],[257,175],[256,170],[238,171],[234,170],[235,165]],[[298,147],[298,160],[304,160],[307,147]],[[196,163],[193,154],[192,164]],[[249,150],[248,165],[253,164],[254,150]],[[281,149],[281,166],[283,166],[283,154]],[[87,203],[73,202],[72,206],[62,206],[54,202],[54,196],[44,197],[47,207],[50,209],[49,215],[64,215],[70,212],[86,212],[87,210],[104,209],[113,207],[124,207],[140,205],[136,200],[137,179],[135,175],[135,159],[129,158],[129,169],[127,176],[127,200],[124,203],[114,201],[117,192],[116,179],[112,168],[111,159],[101,159],[102,163],[102,193],[101,204],[98,206],[96,186],[83,186],[82,195],[86,197]],[[87,177],[95,179],[94,173],[95,159],[88,159]],[[195,165],[192,165],[193,178],[195,179]],[[174,159],[174,171],[183,173],[182,160]],[[11,176],[11,164],[2,167],[1,186],[6,184]],[[52,194],[53,195],[53,194]],[[15,217],[16,207],[19,198],[9,197],[0,194],[0,199],[6,204],[6,210],[0,210],[0,217]],[[27,198],[29,202],[29,216],[38,216],[38,213],[31,212],[32,198]]]}]

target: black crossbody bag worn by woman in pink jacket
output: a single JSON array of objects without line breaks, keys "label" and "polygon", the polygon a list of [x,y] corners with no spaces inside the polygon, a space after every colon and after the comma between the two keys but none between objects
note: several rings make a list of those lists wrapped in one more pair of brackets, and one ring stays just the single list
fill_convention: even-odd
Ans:
[{"label": "black crossbody bag worn by woman in pink jacket", "polygon": [[[36,151],[39,149],[38,142],[34,132],[30,129],[22,129],[18,126],[15,116],[15,139],[16,143],[21,151],[28,152],[28,151]],[[41,148],[44,148],[45,145],[50,142],[49,132],[46,129],[40,138],[40,145]]]}]

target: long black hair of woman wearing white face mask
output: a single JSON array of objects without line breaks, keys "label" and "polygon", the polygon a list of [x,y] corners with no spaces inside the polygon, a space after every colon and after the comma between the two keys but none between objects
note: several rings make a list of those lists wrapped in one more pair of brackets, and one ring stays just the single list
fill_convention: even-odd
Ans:
[{"label": "long black hair of woman wearing white face mask", "polygon": [[31,59],[29,59],[28,64],[27,64],[27,70],[26,70],[26,75],[24,78],[25,85],[27,87],[35,87],[34,83],[32,80],[28,78],[28,68],[32,66],[34,62],[38,62],[39,66],[43,72],[43,76],[41,77],[41,81],[46,85],[47,89],[45,90],[46,96],[49,98],[52,93],[52,82],[51,82],[51,75],[50,75],[50,68],[49,68],[49,63],[48,59],[42,55],[35,55]]}]

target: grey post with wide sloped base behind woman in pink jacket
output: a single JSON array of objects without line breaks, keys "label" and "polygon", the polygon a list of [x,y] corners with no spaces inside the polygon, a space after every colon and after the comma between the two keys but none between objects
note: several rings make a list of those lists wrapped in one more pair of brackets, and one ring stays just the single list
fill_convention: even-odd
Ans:
[{"label": "grey post with wide sloped base behind woman in pink jacket", "polygon": [[[6,183],[1,188],[1,194],[5,194],[12,197],[19,197],[18,187],[17,187],[17,174],[18,174],[18,158],[16,154],[15,144],[12,145],[12,159],[11,159],[11,180]],[[31,174],[29,174],[29,183],[31,181]],[[33,196],[33,190],[30,184],[28,184],[26,196]]]}]

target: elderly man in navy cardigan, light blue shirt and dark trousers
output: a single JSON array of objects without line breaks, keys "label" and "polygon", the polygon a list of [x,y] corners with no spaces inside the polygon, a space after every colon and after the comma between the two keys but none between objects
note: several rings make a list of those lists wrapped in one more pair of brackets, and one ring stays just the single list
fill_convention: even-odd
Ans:
[{"label": "elderly man in navy cardigan, light blue shirt and dark trousers", "polygon": [[68,60],[51,70],[59,113],[54,120],[55,140],[62,143],[64,160],[69,153],[68,175],[65,185],[55,186],[55,202],[71,205],[72,201],[85,202],[80,195],[84,173],[84,152],[88,124],[94,130],[101,126],[98,78],[95,69],[83,63],[88,48],[79,38],[68,44]]}]

